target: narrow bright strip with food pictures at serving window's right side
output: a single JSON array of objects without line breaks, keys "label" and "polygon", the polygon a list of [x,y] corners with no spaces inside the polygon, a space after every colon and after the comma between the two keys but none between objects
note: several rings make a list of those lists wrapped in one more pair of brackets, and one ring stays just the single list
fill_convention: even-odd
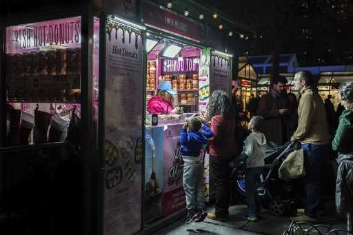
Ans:
[{"label": "narrow bright strip with food pictures at serving window's right side", "polygon": [[199,64],[199,111],[205,112],[210,100],[210,48],[201,50]]}]

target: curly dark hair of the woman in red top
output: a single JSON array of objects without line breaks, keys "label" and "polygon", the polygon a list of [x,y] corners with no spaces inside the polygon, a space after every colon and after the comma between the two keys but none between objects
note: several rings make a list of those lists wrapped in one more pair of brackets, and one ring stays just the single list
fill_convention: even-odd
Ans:
[{"label": "curly dark hair of the woman in red top", "polygon": [[208,120],[211,120],[212,116],[216,114],[221,114],[225,118],[232,117],[232,106],[230,105],[229,96],[222,90],[215,90],[208,103]]}]

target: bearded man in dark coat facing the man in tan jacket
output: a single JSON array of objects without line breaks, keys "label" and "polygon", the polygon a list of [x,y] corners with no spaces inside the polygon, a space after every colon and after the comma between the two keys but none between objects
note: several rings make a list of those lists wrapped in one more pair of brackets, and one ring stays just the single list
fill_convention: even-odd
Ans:
[{"label": "bearded man in dark coat facing the man in tan jacket", "polygon": [[263,134],[265,134],[268,141],[272,141],[277,145],[283,145],[283,143],[288,141],[285,120],[289,111],[285,90],[287,82],[287,79],[283,76],[276,79],[271,85],[270,92],[262,97],[258,110],[259,116],[265,119]]}]

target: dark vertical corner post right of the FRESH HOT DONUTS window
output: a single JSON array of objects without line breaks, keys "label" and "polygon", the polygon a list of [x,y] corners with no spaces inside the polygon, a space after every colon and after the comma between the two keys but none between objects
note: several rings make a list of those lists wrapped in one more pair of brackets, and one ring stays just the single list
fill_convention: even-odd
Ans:
[{"label": "dark vertical corner post right of the FRESH HOT DONUTS window", "polygon": [[93,50],[93,6],[92,0],[83,5],[81,17],[81,190],[83,234],[94,234],[94,216],[92,210],[94,195],[94,154],[92,141],[92,50]]}]

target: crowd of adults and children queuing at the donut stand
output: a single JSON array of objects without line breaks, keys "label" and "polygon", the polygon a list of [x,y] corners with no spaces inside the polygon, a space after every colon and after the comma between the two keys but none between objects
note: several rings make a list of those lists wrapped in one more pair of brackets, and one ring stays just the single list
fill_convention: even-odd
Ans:
[{"label": "crowd of adults and children queuing at the donut stand", "polygon": [[[339,156],[340,182],[336,189],[336,205],[340,211],[353,210],[353,145],[350,144],[353,137],[353,81],[341,85],[339,96],[343,108],[337,112],[332,110],[330,97],[325,102],[321,99],[310,72],[301,71],[294,76],[298,100],[294,94],[287,94],[286,83],[285,78],[279,77],[270,92],[261,98],[259,107],[251,103],[248,133],[240,125],[242,113],[236,104],[234,83],[232,97],[220,90],[212,93],[206,119],[193,116],[185,122],[181,132],[181,152],[185,163],[183,187],[187,199],[187,223],[201,222],[206,216],[212,220],[227,220],[229,176],[232,167],[239,162],[245,164],[248,213],[244,218],[256,221],[261,205],[256,196],[255,182],[263,170],[265,145],[283,145],[288,141],[301,144],[306,172],[302,178],[305,213],[291,217],[292,221],[315,221],[323,209],[323,166],[332,150]],[[201,196],[203,167],[199,157],[206,143],[210,154],[210,176],[214,179],[216,191],[215,211],[208,214]]]}]

